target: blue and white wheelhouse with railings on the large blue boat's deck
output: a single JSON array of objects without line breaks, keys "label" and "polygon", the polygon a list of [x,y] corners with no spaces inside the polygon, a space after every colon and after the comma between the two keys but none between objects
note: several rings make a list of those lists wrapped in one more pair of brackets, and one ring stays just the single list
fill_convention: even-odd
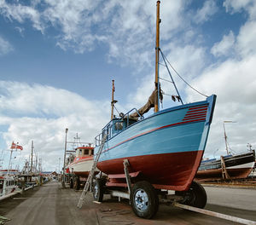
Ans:
[{"label": "blue and white wheelhouse with railings on the large blue boat's deck", "polygon": [[[129,124],[130,118],[129,115],[131,114],[132,111],[135,111],[138,114],[139,120],[142,120],[144,117],[137,111],[137,108],[132,108],[128,113],[120,113],[120,118],[117,120],[114,120],[113,123],[111,124],[111,121],[102,129],[102,133],[100,133],[98,136],[95,138],[95,146],[99,146],[102,142],[103,136],[107,136],[107,141],[111,139],[113,136],[118,135],[120,132],[123,130],[127,129],[131,124]],[[124,126],[126,121],[126,126]],[[121,130],[115,130],[113,132],[113,126],[117,123],[123,123],[123,128]]]}]

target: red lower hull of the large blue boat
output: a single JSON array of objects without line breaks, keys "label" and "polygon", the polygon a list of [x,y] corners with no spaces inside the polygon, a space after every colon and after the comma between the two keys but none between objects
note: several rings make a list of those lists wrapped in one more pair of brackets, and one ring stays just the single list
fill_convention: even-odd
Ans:
[{"label": "red lower hull of the large blue boat", "polygon": [[128,159],[129,172],[140,172],[140,176],[132,178],[132,182],[146,180],[155,188],[183,191],[187,190],[193,181],[202,155],[202,150],[143,155],[98,162],[97,168],[107,175],[124,174],[123,162]]}]

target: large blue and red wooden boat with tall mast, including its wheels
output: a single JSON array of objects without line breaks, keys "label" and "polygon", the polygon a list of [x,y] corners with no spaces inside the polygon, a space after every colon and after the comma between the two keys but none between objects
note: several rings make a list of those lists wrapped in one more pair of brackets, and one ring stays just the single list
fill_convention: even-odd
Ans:
[{"label": "large blue and red wooden boat with tall mast, including its wheels", "polygon": [[[180,101],[182,105],[159,111],[162,99],[160,54],[166,64],[166,57],[159,47],[159,27],[160,1],[157,2],[155,88],[152,95],[140,109],[133,108],[128,113],[114,117],[113,105],[117,101],[113,100],[113,86],[111,120],[95,139],[95,153],[100,153],[96,166],[108,176],[105,181],[96,180],[95,199],[102,200],[102,192],[106,187],[128,187],[132,209],[143,218],[151,218],[156,213],[158,193],[162,189],[175,190],[177,195],[185,196],[183,204],[201,208],[206,205],[205,190],[193,179],[207,144],[216,101],[216,95],[211,95],[205,101],[183,104],[172,79],[177,91],[172,99]],[[166,67],[168,69],[167,64]],[[151,107],[154,107],[154,113],[144,118],[144,113]],[[124,168],[124,164],[128,167]],[[124,172],[126,169],[129,170],[131,184],[127,172]]]}]

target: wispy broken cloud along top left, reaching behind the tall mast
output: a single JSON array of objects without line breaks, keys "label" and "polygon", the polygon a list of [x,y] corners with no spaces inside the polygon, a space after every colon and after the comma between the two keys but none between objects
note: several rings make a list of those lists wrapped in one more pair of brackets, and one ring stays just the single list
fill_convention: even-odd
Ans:
[{"label": "wispy broken cloud along top left, reaching behind the tall mast", "polygon": [[[161,38],[169,39],[188,26],[182,16],[185,3],[161,3],[161,19],[168,26],[161,29]],[[172,12],[172,14],[170,14]],[[98,42],[109,46],[109,61],[150,66],[154,59],[155,3],[132,1],[56,1],[44,0],[30,5],[0,2],[0,14],[9,20],[32,25],[41,32],[53,26],[59,32],[56,45],[84,53],[95,49]],[[173,22],[175,21],[175,22]],[[140,55],[138,53],[142,53]]]}]

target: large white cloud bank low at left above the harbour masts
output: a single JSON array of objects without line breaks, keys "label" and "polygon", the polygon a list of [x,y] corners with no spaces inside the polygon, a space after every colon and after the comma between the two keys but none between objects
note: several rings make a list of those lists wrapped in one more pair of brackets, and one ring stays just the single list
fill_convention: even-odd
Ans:
[{"label": "large white cloud bank low at left above the harbour masts", "polygon": [[48,170],[55,170],[63,155],[66,128],[68,140],[73,141],[78,132],[82,141],[93,142],[109,119],[108,102],[88,101],[65,89],[39,84],[0,82],[0,86],[0,125],[8,126],[2,133],[4,141],[8,147],[19,141],[24,147],[21,159],[25,160],[33,140]]}]

